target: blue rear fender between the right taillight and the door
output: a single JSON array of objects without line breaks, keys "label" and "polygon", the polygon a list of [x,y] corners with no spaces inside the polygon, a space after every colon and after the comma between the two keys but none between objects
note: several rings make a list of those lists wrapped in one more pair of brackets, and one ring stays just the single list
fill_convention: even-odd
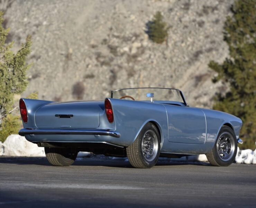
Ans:
[{"label": "blue rear fender between the right taillight and the door", "polygon": [[161,145],[168,139],[167,115],[163,104],[109,98],[113,107],[116,131],[121,134],[124,146],[131,145],[148,122],[157,125]]}]

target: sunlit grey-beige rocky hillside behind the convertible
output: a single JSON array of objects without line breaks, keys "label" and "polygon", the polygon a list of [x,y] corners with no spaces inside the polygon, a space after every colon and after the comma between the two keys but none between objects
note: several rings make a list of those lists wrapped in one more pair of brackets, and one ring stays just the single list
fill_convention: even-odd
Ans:
[{"label": "sunlit grey-beige rocky hillside behind the convertible", "polygon": [[[228,56],[223,23],[231,0],[17,0],[6,5],[8,41],[33,37],[29,85],[22,96],[104,99],[111,89],[180,88],[193,106],[211,107],[210,60]],[[146,23],[161,11],[170,27],[164,44],[148,39]]]}]

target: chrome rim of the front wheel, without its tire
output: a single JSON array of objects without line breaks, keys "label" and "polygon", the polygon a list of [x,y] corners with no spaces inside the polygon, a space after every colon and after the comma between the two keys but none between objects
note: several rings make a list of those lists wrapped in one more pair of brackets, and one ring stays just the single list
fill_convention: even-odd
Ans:
[{"label": "chrome rim of the front wheel, without its tire", "polygon": [[217,141],[217,152],[221,160],[228,161],[234,155],[235,141],[229,132],[223,132]]}]

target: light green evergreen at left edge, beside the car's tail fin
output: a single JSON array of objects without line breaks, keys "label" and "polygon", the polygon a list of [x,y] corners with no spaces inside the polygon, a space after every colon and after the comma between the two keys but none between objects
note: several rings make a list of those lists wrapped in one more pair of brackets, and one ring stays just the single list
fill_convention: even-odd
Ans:
[{"label": "light green evergreen at left edge, beside the car's tail fin", "polygon": [[[13,95],[22,93],[26,86],[26,71],[30,67],[26,64],[30,53],[31,38],[16,54],[11,51],[13,42],[5,44],[9,29],[2,27],[3,12],[0,11],[0,139],[4,141],[6,135],[17,133],[18,118],[9,115],[13,107]],[[7,135],[7,136],[8,136]]]}]

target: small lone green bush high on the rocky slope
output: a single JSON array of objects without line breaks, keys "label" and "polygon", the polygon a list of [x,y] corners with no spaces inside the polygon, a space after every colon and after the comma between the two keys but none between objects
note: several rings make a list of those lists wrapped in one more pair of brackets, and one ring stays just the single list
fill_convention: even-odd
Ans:
[{"label": "small lone green bush high on the rocky slope", "polygon": [[162,43],[167,39],[168,28],[160,11],[156,12],[153,20],[147,23],[147,28],[147,34],[153,42]]}]

